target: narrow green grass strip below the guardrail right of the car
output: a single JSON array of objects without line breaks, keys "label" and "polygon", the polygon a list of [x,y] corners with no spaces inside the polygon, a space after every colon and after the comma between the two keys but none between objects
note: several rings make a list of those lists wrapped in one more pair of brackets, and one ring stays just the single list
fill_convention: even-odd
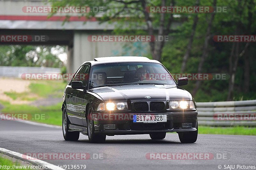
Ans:
[{"label": "narrow green grass strip below the guardrail right of the car", "polygon": [[256,135],[256,128],[250,127],[208,127],[199,126],[199,134],[219,134],[219,135]]}]

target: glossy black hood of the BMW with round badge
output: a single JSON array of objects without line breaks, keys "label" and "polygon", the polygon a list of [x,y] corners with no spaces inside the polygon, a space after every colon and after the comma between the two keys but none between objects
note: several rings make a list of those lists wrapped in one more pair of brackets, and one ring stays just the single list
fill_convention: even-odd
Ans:
[{"label": "glossy black hood of the BMW with round badge", "polygon": [[[105,102],[156,101],[156,100],[192,100],[188,91],[171,85],[123,85],[91,89]],[[150,96],[146,99],[145,96]]]}]

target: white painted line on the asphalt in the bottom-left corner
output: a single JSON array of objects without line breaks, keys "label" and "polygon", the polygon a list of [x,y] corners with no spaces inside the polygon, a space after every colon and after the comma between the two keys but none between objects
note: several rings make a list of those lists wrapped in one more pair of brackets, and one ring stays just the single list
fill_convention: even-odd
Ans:
[{"label": "white painted line on the asphalt in the bottom-left corner", "polygon": [[8,149],[0,148],[0,153],[6,154],[6,155],[11,156],[11,157],[14,157],[16,159],[21,159],[23,161],[29,162],[29,163],[31,163],[33,165],[36,165],[36,166],[45,166],[45,167],[47,167],[45,169],[65,170],[63,168],[60,168],[59,166],[50,164],[50,163],[45,162],[43,160],[35,159],[35,158],[32,158],[32,157],[27,156],[27,155],[23,155],[23,154],[18,153],[18,152],[10,151]]}]

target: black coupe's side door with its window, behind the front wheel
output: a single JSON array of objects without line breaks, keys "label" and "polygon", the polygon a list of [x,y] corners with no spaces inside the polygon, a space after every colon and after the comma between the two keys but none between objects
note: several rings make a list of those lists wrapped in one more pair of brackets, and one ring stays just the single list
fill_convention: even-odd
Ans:
[{"label": "black coupe's side door with its window, behind the front wheel", "polygon": [[[81,71],[79,71],[78,79],[82,81],[83,86],[86,87],[88,84],[88,73],[89,73],[90,66],[88,64],[84,64]],[[87,104],[87,97],[85,89],[74,89],[73,94],[73,103],[76,107],[76,115],[74,116],[74,124],[84,125],[86,126],[86,119],[85,119],[85,108]]]}]

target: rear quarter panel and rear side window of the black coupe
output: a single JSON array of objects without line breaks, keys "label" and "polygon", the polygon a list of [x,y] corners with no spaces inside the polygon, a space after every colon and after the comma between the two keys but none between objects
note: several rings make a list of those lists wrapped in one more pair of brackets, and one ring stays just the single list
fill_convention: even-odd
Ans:
[{"label": "rear quarter panel and rear side window of the black coupe", "polygon": [[66,103],[67,103],[67,113],[68,113],[68,118],[71,122],[71,124],[77,124],[77,106],[75,102],[75,97],[74,95],[76,94],[77,90],[72,89],[71,87],[71,82],[72,81],[78,81],[77,77],[79,73],[81,72],[83,66],[79,67],[76,73],[74,74],[73,78],[71,81],[68,83],[68,86],[66,88]]}]

